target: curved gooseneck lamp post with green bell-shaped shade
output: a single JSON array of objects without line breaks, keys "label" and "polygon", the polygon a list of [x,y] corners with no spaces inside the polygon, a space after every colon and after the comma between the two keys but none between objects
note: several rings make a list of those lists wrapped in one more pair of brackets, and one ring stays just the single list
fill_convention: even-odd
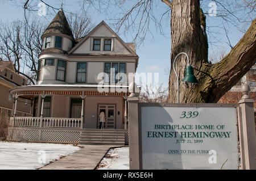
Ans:
[{"label": "curved gooseneck lamp post with green bell-shaped shade", "polygon": [[175,75],[177,77],[177,103],[180,103],[180,89],[179,89],[179,82],[180,81],[179,81],[179,76],[177,75],[177,72],[175,70],[175,61],[176,61],[176,58],[180,54],[185,54],[185,56],[188,59],[188,64],[185,68],[185,77],[181,81],[185,82],[185,85],[188,86],[188,87],[193,86],[193,85],[195,85],[195,83],[198,82],[195,75],[194,75],[193,67],[191,66],[191,61],[189,61],[188,54],[184,53],[184,52],[181,52],[181,53],[177,54],[177,56],[174,59],[174,72],[175,72]]}]

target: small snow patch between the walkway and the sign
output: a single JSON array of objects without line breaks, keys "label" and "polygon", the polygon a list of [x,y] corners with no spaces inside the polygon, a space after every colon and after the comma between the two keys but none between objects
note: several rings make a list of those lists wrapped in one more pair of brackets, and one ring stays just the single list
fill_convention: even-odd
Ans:
[{"label": "small snow patch between the walkway and the sign", "polygon": [[129,147],[110,149],[99,163],[98,170],[129,170]]}]

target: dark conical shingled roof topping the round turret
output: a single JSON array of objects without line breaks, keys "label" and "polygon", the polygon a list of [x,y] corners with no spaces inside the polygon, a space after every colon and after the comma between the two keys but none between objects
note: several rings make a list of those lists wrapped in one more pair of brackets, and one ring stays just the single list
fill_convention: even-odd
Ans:
[{"label": "dark conical shingled roof topping the round turret", "polygon": [[65,14],[62,10],[60,10],[56,14],[56,16],[53,18],[52,22],[46,28],[46,31],[44,31],[42,36],[48,33],[63,33],[65,35],[70,36],[72,39],[74,39],[71,28],[69,27],[69,24],[68,24],[68,20],[65,17]]}]

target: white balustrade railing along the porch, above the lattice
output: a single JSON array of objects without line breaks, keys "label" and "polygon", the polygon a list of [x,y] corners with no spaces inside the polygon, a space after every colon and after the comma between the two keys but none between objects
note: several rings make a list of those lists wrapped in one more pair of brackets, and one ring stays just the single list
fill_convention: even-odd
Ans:
[{"label": "white balustrade railing along the porch, above the lattice", "polygon": [[81,118],[11,117],[14,127],[82,128]]}]

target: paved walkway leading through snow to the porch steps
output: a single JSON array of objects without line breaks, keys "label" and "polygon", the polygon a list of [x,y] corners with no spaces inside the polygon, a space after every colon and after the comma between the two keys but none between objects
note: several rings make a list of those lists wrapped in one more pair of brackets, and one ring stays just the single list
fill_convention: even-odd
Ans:
[{"label": "paved walkway leading through snow to the porch steps", "polygon": [[67,155],[67,157],[59,159],[56,162],[50,163],[40,170],[93,170],[110,148],[117,147],[112,145],[81,146],[84,146],[84,148]]}]

